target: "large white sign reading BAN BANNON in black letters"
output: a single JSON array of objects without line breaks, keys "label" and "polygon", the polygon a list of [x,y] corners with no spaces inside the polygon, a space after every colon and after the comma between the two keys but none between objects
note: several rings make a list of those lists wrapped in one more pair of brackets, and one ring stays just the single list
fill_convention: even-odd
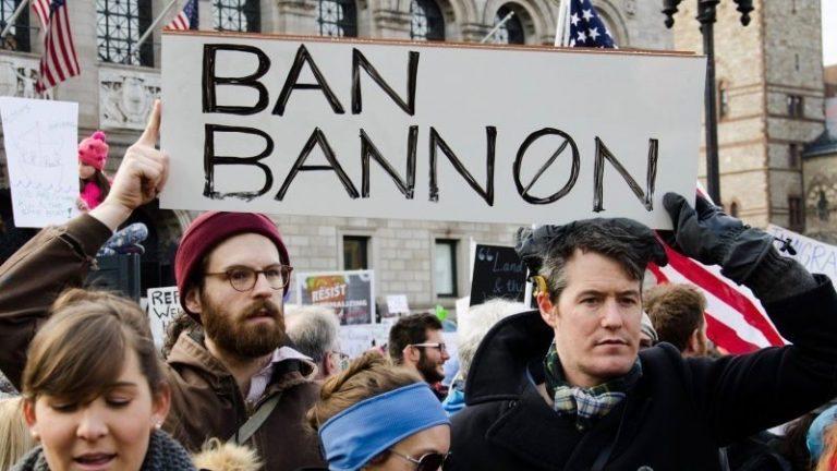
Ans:
[{"label": "large white sign reading BAN BANNON in black letters", "polygon": [[161,206],[670,227],[705,59],[165,33]]}]

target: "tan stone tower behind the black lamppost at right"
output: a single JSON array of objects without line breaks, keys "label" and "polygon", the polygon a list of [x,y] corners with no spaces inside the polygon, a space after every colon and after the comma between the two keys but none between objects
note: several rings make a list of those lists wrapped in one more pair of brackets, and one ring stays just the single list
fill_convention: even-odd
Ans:
[{"label": "tan stone tower behind the black lamppost at right", "polygon": [[[721,203],[754,226],[805,227],[802,153],[824,130],[820,0],[755,0],[749,26],[731,0],[715,25]],[[696,2],[684,1],[675,48],[702,51]],[[702,149],[703,152],[703,149]],[[705,176],[705,159],[701,159]]]}]

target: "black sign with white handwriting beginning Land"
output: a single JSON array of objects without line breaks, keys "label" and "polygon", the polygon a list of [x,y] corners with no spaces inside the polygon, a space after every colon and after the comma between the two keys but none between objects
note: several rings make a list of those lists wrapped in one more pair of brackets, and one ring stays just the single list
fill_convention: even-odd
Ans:
[{"label": "black sign with white handwriting beginning Land", "polygon": [[476,244],[471,277],[471,305],[494,298],[523,302],[526,265],[513,247]]}]

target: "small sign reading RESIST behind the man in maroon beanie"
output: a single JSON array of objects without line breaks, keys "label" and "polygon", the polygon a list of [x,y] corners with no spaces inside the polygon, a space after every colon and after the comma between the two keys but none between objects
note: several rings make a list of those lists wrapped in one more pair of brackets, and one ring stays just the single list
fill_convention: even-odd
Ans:
[{"label": "small sign reading RESIST behind the man in maroon beanie", "polygon": [[341,325],[375,323],[373,270],[301,273],[296,275],[300,304],[332,307]]}]

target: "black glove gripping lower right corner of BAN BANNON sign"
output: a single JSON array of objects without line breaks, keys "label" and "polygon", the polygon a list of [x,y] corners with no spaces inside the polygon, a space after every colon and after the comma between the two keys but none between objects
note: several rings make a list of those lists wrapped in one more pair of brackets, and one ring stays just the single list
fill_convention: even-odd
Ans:
[{"label": "black glove gripping lower right corner of BAN BANNON sign", "polygon": [[701,195],[696,212],[684,197],[666,193],[663,205],[675,226],[672,247],[705,265],[720,265],[721,275],[743,283],[773,247],[773,237],[724,214]]}]

